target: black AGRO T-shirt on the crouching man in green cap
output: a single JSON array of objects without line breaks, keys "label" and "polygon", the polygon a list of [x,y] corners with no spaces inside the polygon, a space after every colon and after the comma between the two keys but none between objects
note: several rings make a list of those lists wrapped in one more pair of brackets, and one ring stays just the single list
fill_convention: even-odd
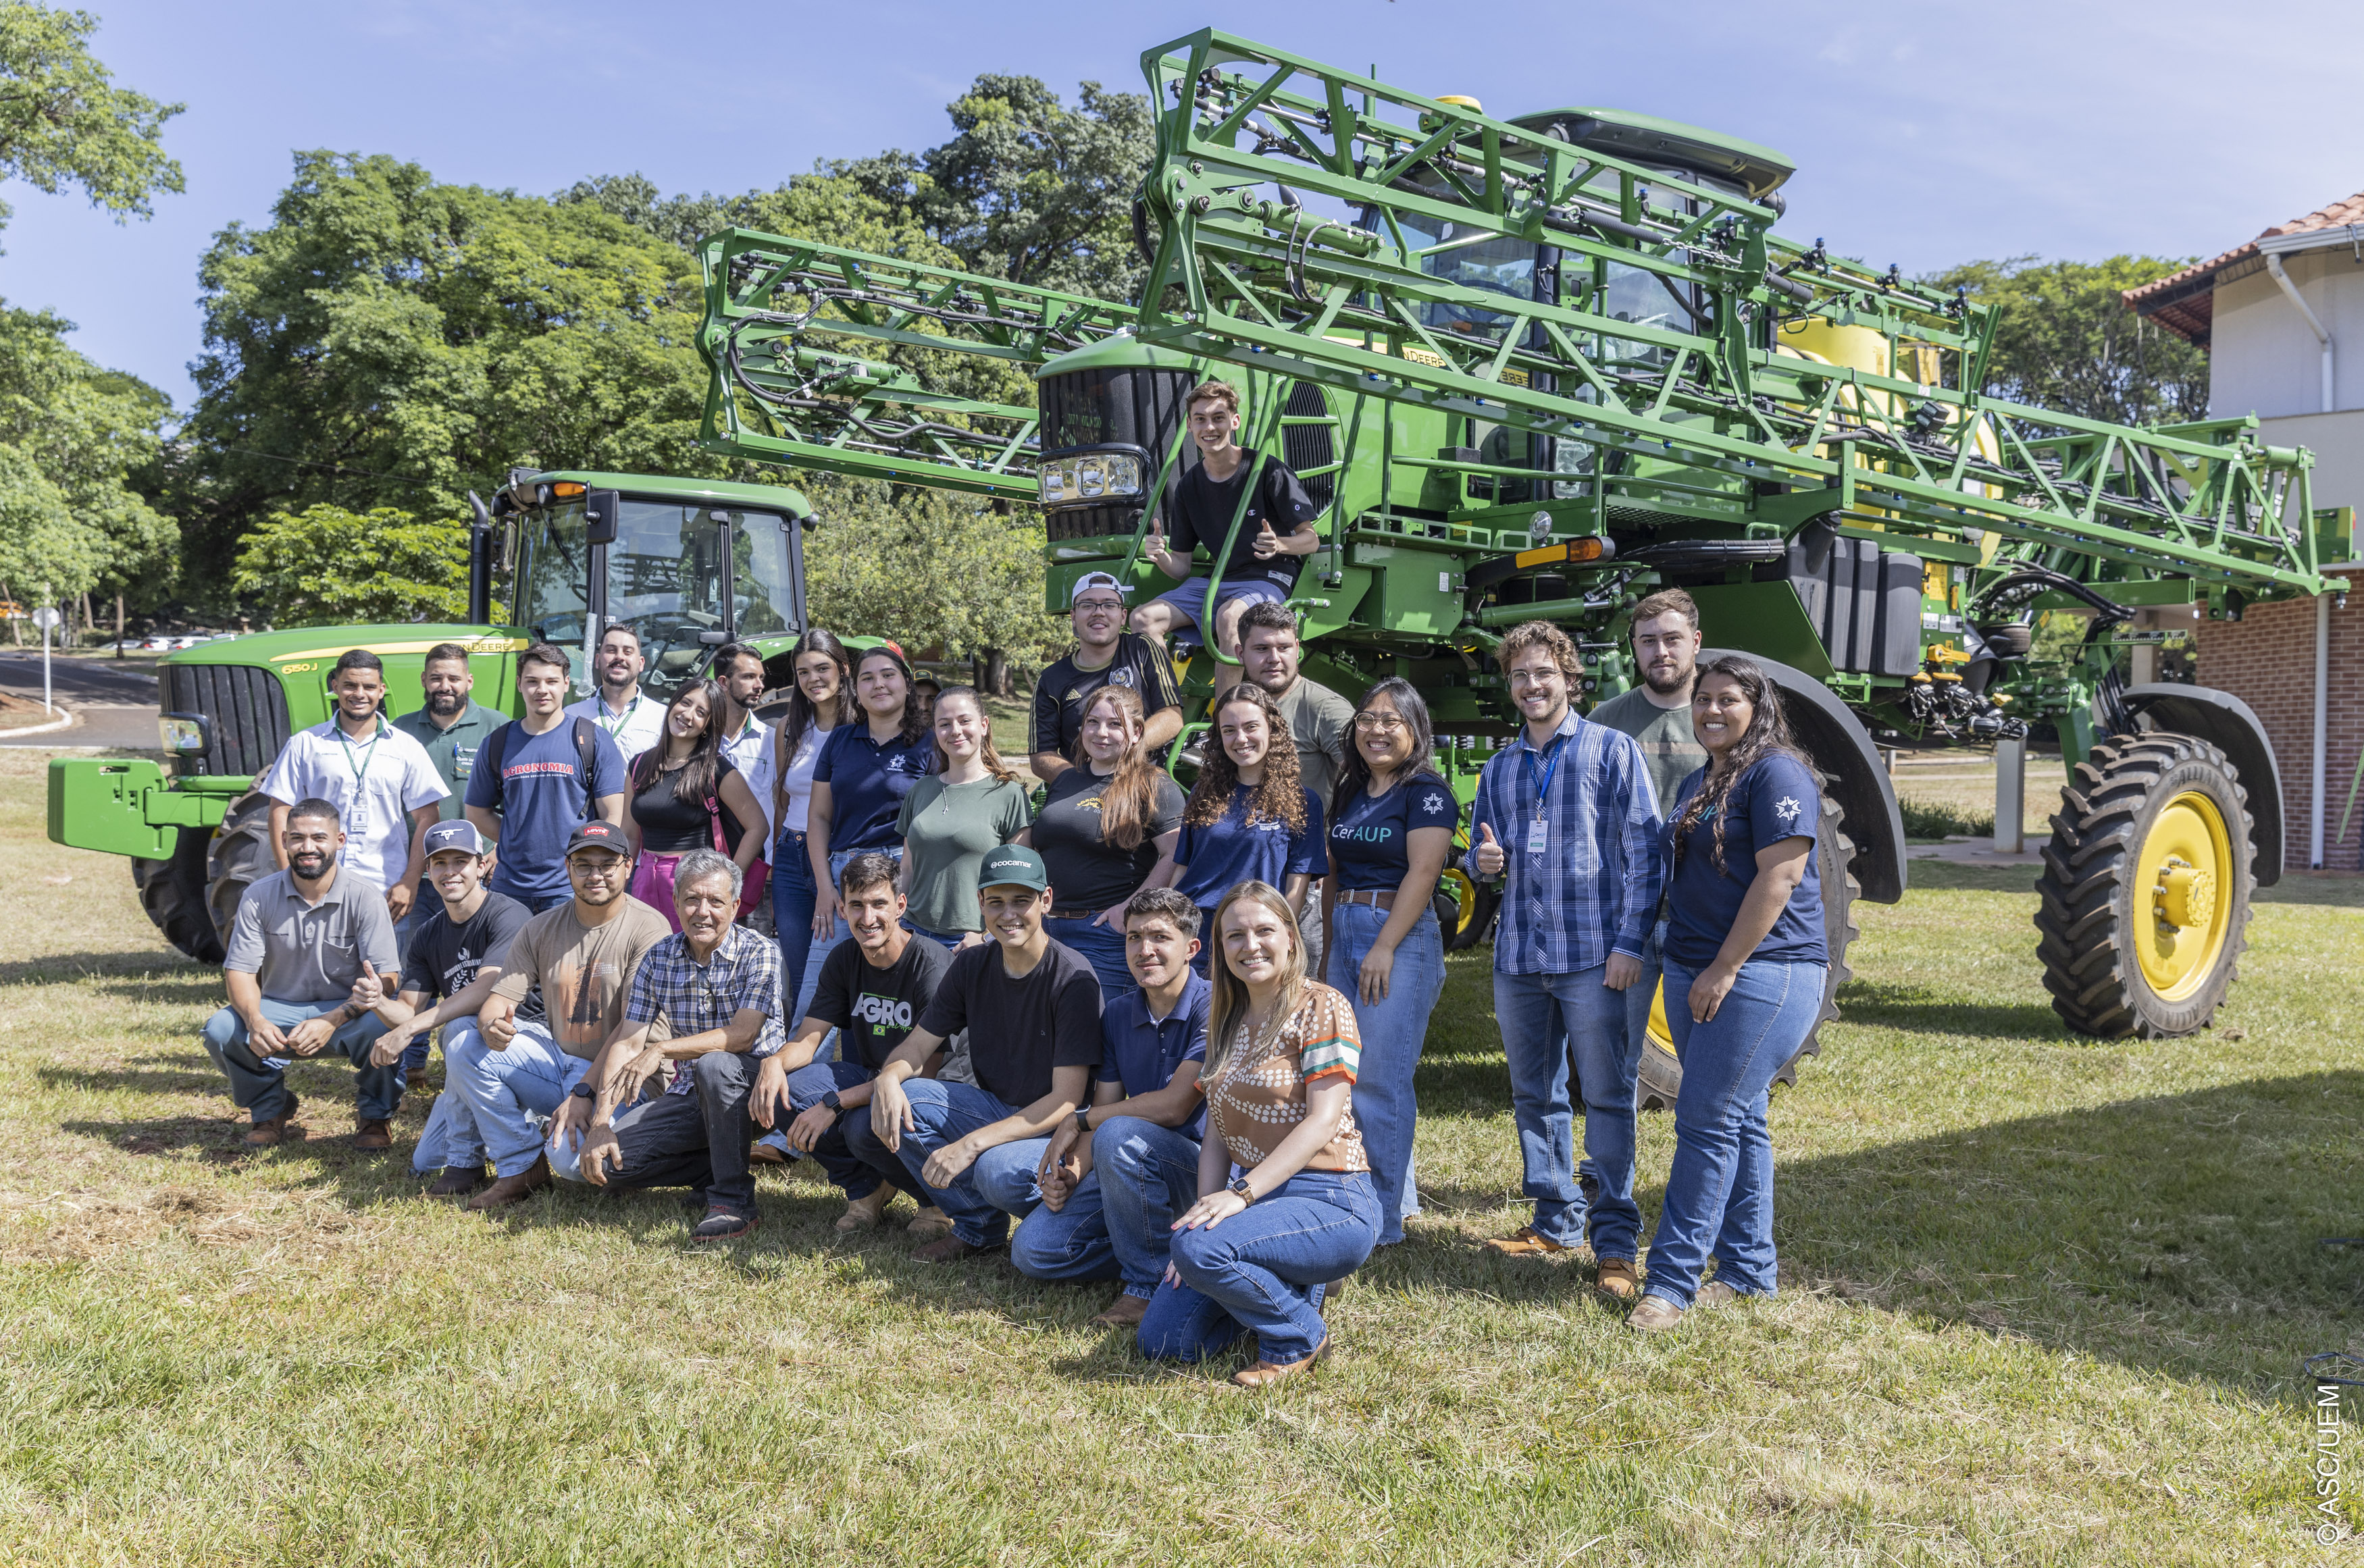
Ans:
[{"label": "black AGRO T-shirt on the crouching man in green cap", "polygon": [[1052,941],[1019,979],[1002,967],[1002,944],[953,955],[920,1026],[953,1038],[969,1031],[976,1088],[1002,1104],[1050,1093],[1054,1067],[1099,1067],[1099,977],[1076,948]]}]

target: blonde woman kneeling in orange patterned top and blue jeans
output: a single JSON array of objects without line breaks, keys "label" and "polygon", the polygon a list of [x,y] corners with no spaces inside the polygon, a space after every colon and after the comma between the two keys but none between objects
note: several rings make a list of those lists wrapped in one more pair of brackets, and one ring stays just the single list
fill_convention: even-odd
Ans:
[{"label": "blonde woman kneeling in orange patterned top and blue jeans", "polygon": [[1355,1010],[1305,979],[1288,899],[1241,882],[1215,941],[1201,1197],[1173,1225],[1139,1346],[1189,1362],[1253,1334],[1258,1360],[1232,1381],[1262,1388],[1329,1350],[1321,1303],[1378,1244],[1378,1192],[1355,1128]]}]

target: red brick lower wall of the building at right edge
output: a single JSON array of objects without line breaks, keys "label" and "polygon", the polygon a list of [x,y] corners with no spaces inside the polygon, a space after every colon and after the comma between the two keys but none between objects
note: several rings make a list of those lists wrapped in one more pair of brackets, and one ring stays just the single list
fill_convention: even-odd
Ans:
[{"label": "red brick lower wall of the building at right edge", "polygon": [[[2324,764],[2324,866],[2359,868],[2364,797],[2340,840],[2340,806],[2364,747],[2364,570],[2336,572],[2350,584],[2347,608],[2331,613],[2331,700]],[[2314,601],[2251,605],[2239,622],[2194,627],[2199,679],[2248,702],[2265,724],[2281,769],[2284,866],[2307,866],[2314,811]]]}]

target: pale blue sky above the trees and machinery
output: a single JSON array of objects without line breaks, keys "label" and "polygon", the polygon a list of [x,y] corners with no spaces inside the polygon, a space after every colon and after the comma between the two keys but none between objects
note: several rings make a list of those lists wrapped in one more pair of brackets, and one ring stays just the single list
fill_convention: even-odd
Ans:
[{"label": "pale blue sky above the trees and machinery", "polygon": [[629,170],[738,192],[941,142],[981,71],[1137,92],[1147,45],[1210,24],[1492,114],[1605,104],[1766,142],[1799,163],[1785,232],[1908,272],[2215,253],[2364,189],[2355,2],[83,2],[118,83],[189,104],[168,125],[189,189],[130,227],[0,192],[0,296],[59,310],[83,352],[180,407],[196,260],[222,225],[267,220],[291,149],[522,192]]}]

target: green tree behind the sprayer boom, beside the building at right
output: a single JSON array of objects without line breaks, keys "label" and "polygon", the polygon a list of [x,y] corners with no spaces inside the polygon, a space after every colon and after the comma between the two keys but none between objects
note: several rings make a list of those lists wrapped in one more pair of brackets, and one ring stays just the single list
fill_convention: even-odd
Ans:
[{"label": "green tree behind the sprayer boom, beside the building at right", "polygon": [[2208,355],[2125,307],[2121,291],[2184,267],[2158,255],[2104,263],[1976,260],[1927,279],[2000,305],[1986,393],[2111,423],[2208,416]]}]

